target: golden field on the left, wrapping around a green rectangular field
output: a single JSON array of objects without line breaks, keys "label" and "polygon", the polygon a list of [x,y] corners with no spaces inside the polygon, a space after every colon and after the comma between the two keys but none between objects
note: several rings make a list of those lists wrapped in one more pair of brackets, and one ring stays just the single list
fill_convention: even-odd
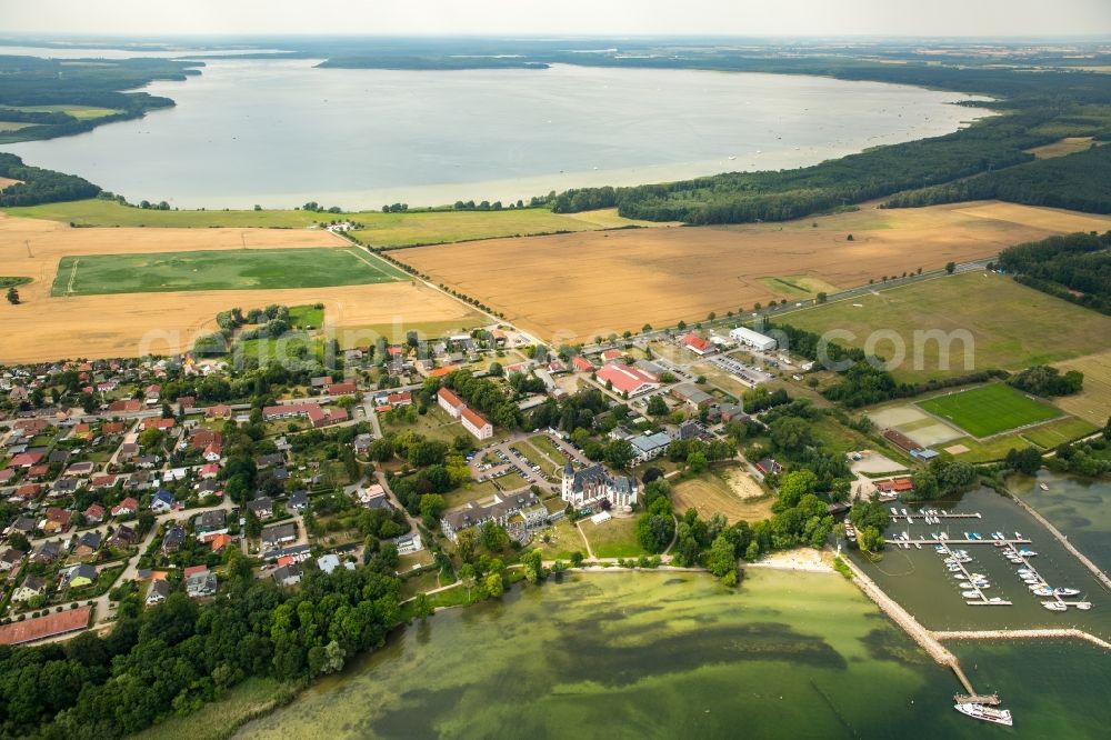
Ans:
[{"label": "golden field on the left, wrapping around a green rectangular field", "polygon": [[[28,254],[26,242],[30,242]],[[349,244],[326,231],[289,229],[71,229],[54,221],[0,216],[0,276],[29,277],[19,306],[0,304],[0,362],[167,354],[216,329],[216,314],[284,303],[321,302],[337,329],[473,319],[462,303],[410,282],[299,288],[128,293],[53,298],[62,257]],[[341,341],[341,344],[343,342]]]}]

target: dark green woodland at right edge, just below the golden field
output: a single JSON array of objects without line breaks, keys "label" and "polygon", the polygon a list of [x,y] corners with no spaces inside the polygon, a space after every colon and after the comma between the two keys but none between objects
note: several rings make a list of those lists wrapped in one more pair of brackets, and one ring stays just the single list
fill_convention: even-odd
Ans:
[{"label": "dark green woodland at right edge, just below the golden field", "polygon": [[[1107,162],[1111,171],[1111,157]],[[999,264],[1025,286],[1111,314],[1111,231],[1009,247],[1000,252]]]}]

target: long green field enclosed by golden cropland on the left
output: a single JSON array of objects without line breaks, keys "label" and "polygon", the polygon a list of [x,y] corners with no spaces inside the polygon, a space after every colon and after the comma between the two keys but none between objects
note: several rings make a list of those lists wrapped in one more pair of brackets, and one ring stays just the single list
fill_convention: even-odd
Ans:
[{"label": "long green field enclosed by golden cropland on the left", "polygon": [[407,279],[393,266],[351,249],[91,254],[63,257],[51,294],[323,288]]}]

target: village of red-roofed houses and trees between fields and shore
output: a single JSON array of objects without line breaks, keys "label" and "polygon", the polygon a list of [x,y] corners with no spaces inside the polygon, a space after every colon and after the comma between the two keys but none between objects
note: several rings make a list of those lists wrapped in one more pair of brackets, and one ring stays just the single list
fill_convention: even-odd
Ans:
[{"label": "village of red-roofed houses and trees between fields and shore", "polygon": [[[176,590],[211,598],[229,550],[284,588],[296,587],[304,568],[359,567],[366,534],[332,523],[337,510],[347,523],[350,509],[381,512],[376,521],[388,526],[372,536],[389,534],[400,574],[440,570],[429,547],[450,549],[461,531],[488,522],[523,546],[550,537],[569,516],[591,517],[593,526],[631,517],[643,497],[638,474],[653,462],[678,470],[667,462],[674,442],[724,439],[727,424],[749,418],[739,393],[699,377],[703,366],[757,388],[777,378],[769,361],[791,362],[774,353],[774,339],[745,328],[551,356],[506,328],[473,333],[380,347],[377,362],[373,347],[349,350],[342,378],[291,380],[266,394],[272,402],[180,394],[190,387],[230,398],[228,367],[188,356],[6,369],[0,642],[108,626],[119,600],[134,592],[148,607]],[[810,367],[800,363],[792,374]],[[458,371],[494,383],[499,400],[511,398],[520,414],[593,390],[603,407],[621,409],[621,422],[591,439],[556,422],[531,433],[496,427],[476,408],[492,410],[489,398],[468,403],[440,387]],[[226,447],[241,428],[263,436],[256,444],[262,452],[249,461],[250,490],[233,474],[243,459],[230,459]],[[423,512],[432,516],[421,518],[422,497],[401,500],[393,490],[420,468],[382,459],[377,448],[394,429],[446,440],[463,458],[462,490],[439,497]],[[605,456],[602,446],[620,452]],[[749,463],[735,444],[720,457],[737,459],[758,498],[771,494],[764,478],[782,471],[771,458]]]}]

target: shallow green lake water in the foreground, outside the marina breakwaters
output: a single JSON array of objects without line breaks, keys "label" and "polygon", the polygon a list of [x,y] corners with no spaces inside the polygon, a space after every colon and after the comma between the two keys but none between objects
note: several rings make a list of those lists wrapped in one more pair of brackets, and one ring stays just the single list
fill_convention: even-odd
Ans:
[{"label": "shallow green lake water in the foreground, outside the marina breakwaters", "polygon": [[[959,646],[1028,737],[1099,737],[1088,646]],[[1037,670],[1024,656],[1037,658]],[[953,676],[840,576],[567,576],[399,630],[242,738],[939,738],[984,728]],[[1081,713],[1082,717],[1077,717]],[[1025,734],[1025,733],[1024,733]]]}]

